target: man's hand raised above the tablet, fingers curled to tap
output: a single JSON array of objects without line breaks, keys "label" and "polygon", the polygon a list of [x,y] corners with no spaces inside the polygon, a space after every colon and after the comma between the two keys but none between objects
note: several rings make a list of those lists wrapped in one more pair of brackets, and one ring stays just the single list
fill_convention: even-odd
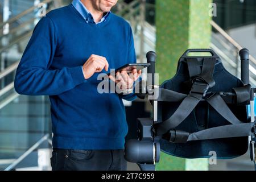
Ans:
[{"label": "man's hand raised above the tablet, fingers curled to tap", "polygon": [[106,58],[98,55],[91,55],[82,66],[82,73],[84,73],[84,78],[88,79],[92,77],[94,73],[101,72],[104,68],[105,71],[108,71],[109,69],[109,63]]}]

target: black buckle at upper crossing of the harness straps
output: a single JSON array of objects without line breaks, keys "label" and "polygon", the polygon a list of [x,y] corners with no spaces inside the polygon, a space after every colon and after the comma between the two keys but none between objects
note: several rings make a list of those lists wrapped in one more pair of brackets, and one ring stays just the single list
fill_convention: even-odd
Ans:
[{"label": "black buckle at upper crossing of the harness straps", "polygon": [[195,93],[205,97],[209,90],[209,85],[205,83],[203,80],[201,80],[200,78],[195,78],[194,80],[193,80],[193,85],[191,87],[191,91],[189,94],[192,95],[193,93]]}]

